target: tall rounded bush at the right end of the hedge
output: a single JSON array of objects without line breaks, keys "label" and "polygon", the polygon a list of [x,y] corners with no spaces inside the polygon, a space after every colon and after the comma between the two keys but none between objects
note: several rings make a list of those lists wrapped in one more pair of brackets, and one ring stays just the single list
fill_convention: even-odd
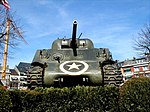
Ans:
[{"label": "tall rounded bush at the right end of the hedge", "polygon": [[120,89],[122,112],[150,112],[150,78],[134,78]]}]

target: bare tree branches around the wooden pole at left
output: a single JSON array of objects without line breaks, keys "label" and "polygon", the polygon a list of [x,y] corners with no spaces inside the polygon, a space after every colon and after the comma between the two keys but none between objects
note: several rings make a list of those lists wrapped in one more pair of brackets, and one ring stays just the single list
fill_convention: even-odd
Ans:
[{"label": "bare tree branches around the wooden pole at left", "polygon": [[17,23],[17,20],[14,19],[14,14],[10,13],[8,10],[5,10],[5,8],[0,5],[0,57],[3,55],[4,45],[6,43],[5,36],[7,19],[10,19],[11,21],[8,45],[11,48],[16,48],[18,41],[23,40],[26,42],[22,36],[23,30],[19,26],[19,23]]}]

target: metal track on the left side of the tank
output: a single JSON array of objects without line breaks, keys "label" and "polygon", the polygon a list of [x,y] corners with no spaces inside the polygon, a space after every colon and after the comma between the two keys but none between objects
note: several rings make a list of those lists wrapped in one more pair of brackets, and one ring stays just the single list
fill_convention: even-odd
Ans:
[{"label": "metal track on the left side of the tank", "polygon": [[39,66],[31,67],[27,73],[27,86],[29,89],[43,86],[43,68]]}]

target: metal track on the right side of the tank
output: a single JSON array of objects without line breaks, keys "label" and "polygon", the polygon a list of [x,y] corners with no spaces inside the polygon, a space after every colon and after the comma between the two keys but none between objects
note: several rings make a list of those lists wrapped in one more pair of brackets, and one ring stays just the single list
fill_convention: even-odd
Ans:
[{"label": "metal track on the right side of the tank", "polygon": [[103,79],[104,85],[115,85],[119,86],[123,79],[121,71],[116,69],[115,65],[107,64],[103,67]]}]

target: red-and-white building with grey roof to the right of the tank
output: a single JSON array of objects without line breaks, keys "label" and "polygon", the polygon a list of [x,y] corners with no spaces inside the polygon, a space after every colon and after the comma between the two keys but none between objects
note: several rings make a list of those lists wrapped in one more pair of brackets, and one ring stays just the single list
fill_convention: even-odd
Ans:
[{"label": "red-and-white building with grey roof to the right of the tank", "polygon": [[150,77],[150,57],[133,58],[118,63],[124,81],[133,77]]}]

